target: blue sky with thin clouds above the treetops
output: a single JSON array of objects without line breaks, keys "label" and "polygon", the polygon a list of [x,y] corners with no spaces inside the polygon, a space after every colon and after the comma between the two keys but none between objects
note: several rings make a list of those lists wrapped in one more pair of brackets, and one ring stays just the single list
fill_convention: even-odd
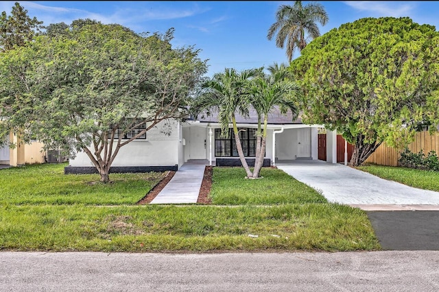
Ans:
[{"label": "blue sky with thin clouds above the treetops", "polygon": [[[303,1],[304,4],[309,1]],[[317,1],[329,23],[321,34],[364,17],[409,16],[416,23],[439,27],[439,1]],[[224,68],[244,70],[287,63],[267,31],[279,5],[294,1],[19,1],[28,15],[45,25],[78,18],[119,23],[137,32],[164,33],[175,28],[173,44],[194,45],[209,59],[208,76]],[[1,1],[0,12],[10,14],[14,1]],[[298,53],[295,52],[294,57]]]}]

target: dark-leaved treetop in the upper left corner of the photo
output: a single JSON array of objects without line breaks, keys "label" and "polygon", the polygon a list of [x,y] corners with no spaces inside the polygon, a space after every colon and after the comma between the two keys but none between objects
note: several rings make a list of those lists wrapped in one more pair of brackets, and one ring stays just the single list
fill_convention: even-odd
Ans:
[{"label": "dark-leaved treetop in the upper left corner of the photo", "polygon": [[34,40],[40,29],[43,29],[43,21],[36,17],[27,16],[27,10],[19,2],[15,2],[12,12],[8,16],[5,11],[0,16],[0,49],[9,51],[14,46],[22,47],[27,42]]}]

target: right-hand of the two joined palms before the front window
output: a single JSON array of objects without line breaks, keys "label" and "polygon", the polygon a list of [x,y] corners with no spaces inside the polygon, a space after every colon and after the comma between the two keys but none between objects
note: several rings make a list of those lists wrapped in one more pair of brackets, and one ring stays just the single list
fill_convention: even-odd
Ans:
[{"label": "right-hand of the two joined palms before the front window", "polygon": [[293,119],[298,115],[298,108],[294,103],[294,98],[300,92],[300,89],[297,83],[288,79],[287,67],[283,64],[281,66],[274,64],[268,70],[270,75],[259,76],[252,80],[252,85],[248,90],[250,103],[256,109],[259,120],[253,178],[259,177],[259,172],[263,165],[268,115],[270,112],[274,107],[279,107],[281,114],[286,114],[288,110],[291,110]]}]

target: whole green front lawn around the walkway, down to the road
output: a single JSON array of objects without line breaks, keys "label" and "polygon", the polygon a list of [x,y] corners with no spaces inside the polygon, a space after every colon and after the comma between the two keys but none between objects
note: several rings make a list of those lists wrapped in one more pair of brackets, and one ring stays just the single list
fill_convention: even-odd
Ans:
[{"label": "whole green front lawn around the walkway, down to the road", "polygon": [[111,174],[114,183],[105,185],[97,175],[64,175],[64,166],[0,170],[0,250],[380,249],[364,211],[329,204],[281,170],[247,180],[242,169],[214,168],[214,201],[222,206],[160,206],[134,203],[163,174]]}]

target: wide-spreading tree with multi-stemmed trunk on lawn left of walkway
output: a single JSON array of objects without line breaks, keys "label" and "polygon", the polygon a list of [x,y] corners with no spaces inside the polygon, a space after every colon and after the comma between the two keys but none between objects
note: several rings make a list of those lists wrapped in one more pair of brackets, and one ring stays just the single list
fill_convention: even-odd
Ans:
[{"label": "wide-spreading tree with multi-stemmed trunk on lawn left of walkway", "polygon": [[121,147],[185,115],[206,62],[193,47],[171,47],[173,29],[139,36],[86,22],[0,55],[1,127],[25,129],[24,141],[36,138],[72,156],[84,151],[108,182]]}]

